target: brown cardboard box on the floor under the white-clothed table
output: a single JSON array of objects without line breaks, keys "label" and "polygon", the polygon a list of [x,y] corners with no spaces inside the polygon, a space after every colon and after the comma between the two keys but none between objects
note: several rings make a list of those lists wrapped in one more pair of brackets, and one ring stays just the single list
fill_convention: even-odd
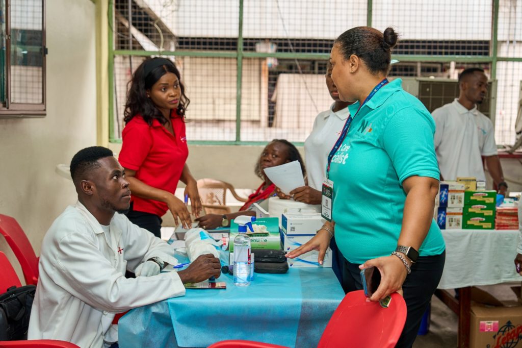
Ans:
[{"label": "brown cardboard box on the floor under the white-clothed table", "polygon": [[471,288],[470,347],[522,348],[522,306]]}]

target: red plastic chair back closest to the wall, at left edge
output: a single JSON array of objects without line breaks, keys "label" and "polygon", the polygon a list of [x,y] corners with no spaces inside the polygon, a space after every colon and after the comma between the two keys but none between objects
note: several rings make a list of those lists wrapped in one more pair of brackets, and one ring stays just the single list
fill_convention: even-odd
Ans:
[{"label": "red plastic chair back closest to the wall, at left edge", "polygon": [[0,214],[0,233],[20,262],[26,284],[36,285],[38,283],[38,258],[20,225],[14,218]]}]

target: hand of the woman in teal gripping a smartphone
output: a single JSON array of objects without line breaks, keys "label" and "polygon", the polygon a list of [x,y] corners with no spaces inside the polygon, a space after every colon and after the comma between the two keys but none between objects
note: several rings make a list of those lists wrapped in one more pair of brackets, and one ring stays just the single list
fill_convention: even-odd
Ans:
[{"label": "hand of the woman in teal gripping a smartphone", "polygon": [[374,266],[381,272],[381,284],[379,284],[377,291],[370,297],[371,301],[381,300],[394,292],[398,292],[402,295],[402,283],[406,280],[408,271],[398,257],[390,255],[372,259],[364,262],[359,268],[364,269],[371,266]]}]

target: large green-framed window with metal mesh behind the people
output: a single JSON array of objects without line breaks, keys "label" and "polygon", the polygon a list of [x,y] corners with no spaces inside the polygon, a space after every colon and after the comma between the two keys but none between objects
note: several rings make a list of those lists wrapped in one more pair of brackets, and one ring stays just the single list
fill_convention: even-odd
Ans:
[{"label": "large green-framed window with metal mesh behind the people", "polygon": [[429,109],[458,96],[439,82],[484,68],[494,83],[482,108],[497,143],[515,141],[522,0],[112,0],[108,15],[112,142],[120,141],[132,72],[144,57],[165,56],[191,99],[189,142],[302,143],[332,102],[324,74],[334,39],[364,25],[401,33],[390,76],[404,78],[416,96],[434,79],[437,93],[422,96]]}]

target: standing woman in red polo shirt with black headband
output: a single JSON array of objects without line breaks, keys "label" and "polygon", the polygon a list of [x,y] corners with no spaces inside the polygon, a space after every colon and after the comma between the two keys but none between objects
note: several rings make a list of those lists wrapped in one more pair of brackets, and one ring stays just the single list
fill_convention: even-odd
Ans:
[{"label": "standing woman in red polo shirt with black headband", "polygon": [[131,210],[127,217],[161,237],[161,216],[172,213],[187,227],[191,217],[183,201],[174,196],[179,180],[186,184],[192,213],[201,209],[196,180],[185,161],[185,96],[180,72],[164,58],[147,59],[136,69],[125,103],[121,165],[131,183]]}]

